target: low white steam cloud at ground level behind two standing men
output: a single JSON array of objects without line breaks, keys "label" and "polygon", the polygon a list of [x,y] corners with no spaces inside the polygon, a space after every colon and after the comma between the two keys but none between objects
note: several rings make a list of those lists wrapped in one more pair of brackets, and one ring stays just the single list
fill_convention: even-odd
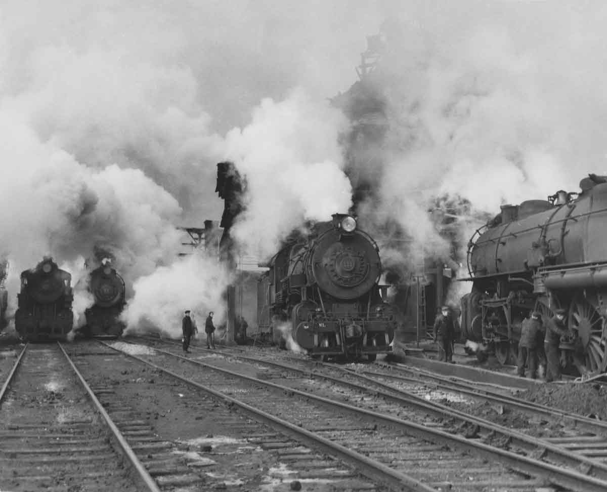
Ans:
[{"label": "low white steam cloud at ground level behind two standing men", "polygon": [[217,258],[206,257],[202,251],[157,268],[133,286],[135,296],[122,316],[127,332],[154,330],[181,337],[181,318],[189,309],[203,337],[209,311],[215,313],[215,327],[225,322],[222,295],[229,281],[228,272]]}]

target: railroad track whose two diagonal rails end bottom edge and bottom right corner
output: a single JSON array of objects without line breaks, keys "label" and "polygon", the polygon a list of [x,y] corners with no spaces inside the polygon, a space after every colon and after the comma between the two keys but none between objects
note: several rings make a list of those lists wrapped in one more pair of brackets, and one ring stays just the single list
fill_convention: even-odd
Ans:
[{"label": "railroad track whose two diagonal rails end bottom edge and bottom right corner", "polygon": [[[236,394],[238,400],[229,397],[234,405],[261,409],[266,414],[288,420],[296,428],[324,436],[323,445],[328,445],[328,440],[341,449],[351,451],[349,457],[342,455],[342,459],[356,460],[368,456],[376,463],[377,470],[385,467],[392,470],[392,479],[387,476],[382,479],[390,487],[409,487],[410,490],[412,483],[416,481],[432,490],[535,490],[546,483],[558,484],[568,490],[605,490],[607,487],[605,480],[585,475],[572,468],[556,466],[545,458],[539,460],[532,456],[521,456],[501,449],[500,443],[496,442],[491,445],[490,439],[482,439],[478,435],[478,430],[467,437],[457,435],[453,429],[447,432],[441,428],[443,425],[429,415],[431,412],[422,414],[419,409],[409,411],[401,406],[398,409],[400,418],[396,418],[388,415],[389,412],[394,413],[395,406],[390,404],[390,410],[379,408],[382,404],[377,397],[361,397],[359,401],[352,403],[353,395],[340,395],[336,399],[334,386],[323,388],[318,381],[310,384],[309,378],[305,378],[307,381],[297,381],[296,378],[288,376],[279,377],[281,383],[290,383],[276,384],[266,380],[267,375],[246,375],[256,370],[251,369],[250,364],[248,367],[246,364],[240,367],[239,372],[245,374],[226,369],[229,366],[233,369],[233,366],[238,365],[234,358],[221,363],[220,358],[216,357],[212,363],[202,363],[200,360],[171,353],[176,351],[176,347],[171,350],[158,350],[157,355],[140,360],[153,364],[158,370],[170,371],[175,376],[179,376],[175,374],[175,367],[183,372],[183,361],[211,369],[195,371],[193,377],[184,380],[189,384],[199,384],[200,389],[205,391],[209,391],[209,387],[215,388],[212,391],[223,394],[225,398],[226,393]],[[257,360],[257,364],[260,363],[267,364],[267,361]],[[219,367],[221,364],[224,367]],[[307,384],[307,391],[297,388],[298,384]],[[332,393],[332,397],[322,397],[321,393]],[[344,399],[350,402],[345,403]],[[369,408],[360,408],[361,401]],[[373,407],[375,409],[372,409]],[[411,420],[402,418],[404,412]],[[378,427],[373,432],[361,433],[358,429],[361,422],[375,422]],[[541,443],[542,449],[545,444]],[[331,453],[337,454],[337,451],[334,449]],[[575,457],[575,461],[580,460]],[[362,464],[356,463],[356,466]],[[595,473],[594,468],[592,473]]]}]

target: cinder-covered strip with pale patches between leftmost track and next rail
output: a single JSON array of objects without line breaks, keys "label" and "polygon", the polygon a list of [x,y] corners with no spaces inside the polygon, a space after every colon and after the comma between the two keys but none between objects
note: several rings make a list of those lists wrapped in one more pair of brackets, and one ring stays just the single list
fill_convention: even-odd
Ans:
[{"label": "cinder-covered strip with pale patches between leftmost track and next rail", "polygon": [[[119,426],[129,422],[133,432],[126,438],[163,491],[273,490],[296,481],[310,491],[378,490],[358,470],[302,445],[271,419],[236,413],[107,344],[69,350],[112,419]],[[200,428],[214,432],[200,435]]]}]

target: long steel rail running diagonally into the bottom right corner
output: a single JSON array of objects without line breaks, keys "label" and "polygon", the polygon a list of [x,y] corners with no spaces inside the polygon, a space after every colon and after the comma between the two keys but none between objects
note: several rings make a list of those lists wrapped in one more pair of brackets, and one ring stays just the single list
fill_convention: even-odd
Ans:
[{"label": "long steel rail running diagonally into the bottom right corner", "polygon": [[[112,347],[112,348],[114,349],[114,347]],[[114,349],[114,350],[121,352],[118,349]],[[415,422],[409,422],[407,420],[397,419],[396,417],[392,417],[390,415],[380,414],[378,412],[372,412],[367,409],[362,409],[362,408],[358,408],[355,406],[351,406],[351,405],[348,405],[347,403],[342,403],[341,401],[330,400],[328,398],[319,397],[317,395],[314,395],[314,394],[311,394],[311,393],[308,393],[305,391],[299,391],[297,389],[288,388],[288,386],[282,386],[280,384],[271,383],[270,381],[260,380],[260,379],[254,378],[254,377],[239,374],[237,372],[228,371],[227,369],[222,369],[221,367],[212,366],[211,364],[206,364],[206,363],[203,363],[200,361],[195,361],[195,360],[189,359],[187,357],[181,357],[180,355],[172,354],[171,352],[168,352],[167,350],[162,350],[162,349],[158,349],[158,348],[154,348],[154,350],[157,350],[157,352],[160,352],[161,354],[169,355],[170,357],[178,358],[183,361],[188,361],[191,364],[195,364],[195,365],[202,366],[202,367],[209,367],[209,369],[212,369],[212,370],[218,371],[218,372],[222,372],[223,374],[231,375],[232,377],[251,381],[256,384],[261,384],[262,386],[267,386],[269,388],[279,389],[282,392],[288,391],[293,394],[297,394],[301,397],[308,398],[308,400],[315,400],[324,405],[337,407],[337,408],[343,409],[345,411],[349,411],[354,414],[364,415],[365,417],[371,417],[376,422],[379,420],[382,423],[384,423],[385,425],[397,426],[401,429],[405,429],[405,431],[407,431],[408,434],[418,437],[419,439],[432,440],[433,442],[439,441],[448,446],[456,445],[461,448],[466,448],[467,450],[473,451],[475,453],[479,453],[481,451],[483,453],[483,457],[486,457],[487,454],[493,455],[494,457],[497,458],[498,461],[507,463],[514,470],[522,470],[527,473],[531,473],[534,476],[540,476],[540,477],[547,476],[549,482],[554,483],[555,485],[560,485],[560,486],[566,485],[567,487],[571,488],[572,490],[579,490],[581,492],[589,492],[589,491],[604,492],[605,490],[607,490],[607,481],[606,480],[597,479],[595,477],[589,477],[588,475],[579,473],[578,471],[575,471],[575,470],[564,469],[561,466],[552,465],[551,463],[542,462],[538,459],[533,459],[533,458],[530,458],[527,456],[521,456],[516,453],[506,451],[504,449],[494,448],[493,446],[489,446],[484,443],[472,442],[471,440],[466,439],[464,437],[455,436],[453,434],[449,434],[447,432],[440,431],[438,429],[427,428],[426,426],[420,425]],[[122,352],[122,353],[124,353],[124,352]],[[152,364],[149,361],[146,361],[146,360],[136,357],[134,355],[131,355],[131,354],[125,354],[125,355],[127,355],[129,357],[133,357],[137,360],[140,360],[143,363],[146,363],[150,366],[155,367],[156,369],[160,369],[161,371],[169,372],[166,369],[156,366],[155,364]],[[264,362],[265,361],[261,361],[261,363],[264,363]],[[188,382],[189,380],[186,380],[184,378],[184,381]],[[341,380],[339,380],[339,381],[342,382]],[[190,383],[193,383],[193,381],[190,381]],[[194,384],[197,384],[197,383],[194,383]],[[368,389],[367,389],[367,391],[368,391]],[[434,408],[433,408],[433,411],[435,411]],[[468,415],[466,415],[466,418],[470,419],[470,417]],[[477,422],[484,422],[484,421],[482,421],[482,419],[476,419],[476,417],[474,419]],[[477,425],[480,425],[480,423],[478,423]],[[489,425],[490,425],[490,428],[496,427],[492,423],[489,423]],[[517,433],[517,434],[520,436],[526,437],[524,434],[520,434],[520,433]],[[518,436],[515,436],[515,437],[518,437]],[[537,449],[538,447],[540,448],[541,453],[545,453],[546,451],[552,452],[552,448],[555,448],[554,451],[556,451],[557,453],[563,453],[562,448],[558,448],[557,446],[550,445],[548,442],[539,441],[538,444],[534,444],[534,449]],[[571,456],[572,453],[570,451],[567,451],[564,454]],[[580,463],[580,462],[588,463],[588,465],[591,466],[592,470],[594,470],[595,466],[599,464],[598,462],[594,462],[592,460],[585,459],[585,457],[581,457],[581,456],[580,457],[575,456],[574,458],[576,459],[577,463]],[[584,459],[582,459],[582,458],[584,458]],[[584,470],[586,471],[587,468],[584,468]]]}]

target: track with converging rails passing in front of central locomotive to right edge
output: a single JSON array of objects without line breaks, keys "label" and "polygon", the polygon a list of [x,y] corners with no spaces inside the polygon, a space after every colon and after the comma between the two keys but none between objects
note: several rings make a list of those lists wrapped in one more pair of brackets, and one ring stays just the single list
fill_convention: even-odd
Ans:
[{"label": "track with converging rails passing in front of central locomotive to right edge", "polygon": [[[222,354],[229,350],[222,349]],[[237,352],[240,352],[237,349]],[[511,449],[515,453],[540,458],[549,463],[569,466],[574,470],[582,470],[600,479],[607,480],[607,424],[582,415],[558,411],[546,406],[530,403],[518,398],[500,394],[489,390],[477,391],[473,384],[464,381],[443,381],[440,377],[429,372],[415,371],[416,377],[404,377],[394,372],[393,366],[388,366],[384,372],[378,372],[378,364],[362,364],[356,371],[336,366],[335,364],[317,363],[306,358],[282,357],[285,362],[274,360],[272,354],[257,352],[256,357],[247,357],[240,353],[230,354],[229,357],[240,358],[251,363],[262,363],[291,372],[299,372],[309,377],[313,371],[316,381],[323,378],[333,384],[347,386],[360,392],[360,394],[376,395],[384,398],[381,403],[382,411],[388,415],[402,414],[402,408],[411,408],[415,412],[424,412],[435,415],[443,422],[443,429],[484,442],[495,442],[498,445]],[[371,367],[373,369],[361,369]],[[323,371],[324,370],[324,371]],[[429,386],[427,376],[432,384]],[[396,380],[396,384],[388,384],[386,380]],[[291,387],[293,382],[287,381]],[[300,385],[307,388],[307,383]],[[317,384],[316,389],[322,391]],[[334,391],[327,388],[328,395]],[[464,398],[463,398],[464,397]],[[356,395],[348,395],[347,400],[356,401]],[[453,401],[483,400],[495,408],[492,420],[481,419],[467,412],[458,411],[450,406],[441,405],[429,399],[439,401],[451,398]],[[376,403],[362,400],[365,408],[374,408]],[[396,404],[395,407],[393,404]],[[454,403],[453,405],[457,405]],[[520,419],[510,419],[509,426],[500,425],[501,415],[504,412],[517,412]],[[526,417],[522,417],[525,415]],[[408,414],[407,419],[416,420],[415,414]],[[524,422],[521,428],[513,428],[512,422]],[[531,422],[531,423],[530,423]],[[551,425],[546,428],[546,424]],[[530,434],[535,434],[532,436]]]}]

